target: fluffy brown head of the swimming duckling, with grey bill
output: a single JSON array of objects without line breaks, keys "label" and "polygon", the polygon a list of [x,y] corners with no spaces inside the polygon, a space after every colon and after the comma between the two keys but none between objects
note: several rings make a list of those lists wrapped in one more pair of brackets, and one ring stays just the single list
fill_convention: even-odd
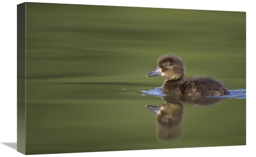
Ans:
[{"label": "fluffy brown head of the swimming duckling, with grey bill", "polygon": [[161,75],[170,81],[180,80],[184,75],[184,64],[182,60],[173,54],[163,55],[157,60],[157,68],[146,76]]}]

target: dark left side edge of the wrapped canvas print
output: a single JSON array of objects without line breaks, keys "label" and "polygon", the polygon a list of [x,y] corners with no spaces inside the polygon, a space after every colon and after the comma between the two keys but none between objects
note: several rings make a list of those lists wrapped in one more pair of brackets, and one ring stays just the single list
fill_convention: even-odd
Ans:
[{"label": "dark left side edge of the wrapped canvas print", "polygon": [[26,3],[17,5],[17,151],[26,154]]}]

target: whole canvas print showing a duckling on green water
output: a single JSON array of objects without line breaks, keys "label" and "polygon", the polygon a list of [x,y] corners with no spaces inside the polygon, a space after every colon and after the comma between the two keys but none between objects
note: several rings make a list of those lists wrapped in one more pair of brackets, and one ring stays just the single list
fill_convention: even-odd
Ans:
[{"label": "whole canvas print showing a duckling on green water", "polygon": [[17,5],[17,151],[246,145],[246,13]]}]

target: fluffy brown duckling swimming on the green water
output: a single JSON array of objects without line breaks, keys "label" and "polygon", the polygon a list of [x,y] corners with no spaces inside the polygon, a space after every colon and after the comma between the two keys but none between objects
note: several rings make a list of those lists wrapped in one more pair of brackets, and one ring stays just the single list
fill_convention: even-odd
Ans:
[{"label": "fluffy brown duckling swimming on the green water", "polygon": [[183,61],[174,54],[163,55],[157,60],[157,68],[146,76],[161,75],[166,80],[162,90],[175,92],[189,96],[219,96],[226,95],[226,87],[219,81],[209,77],[189,77],[182,79],[184,75]]}]

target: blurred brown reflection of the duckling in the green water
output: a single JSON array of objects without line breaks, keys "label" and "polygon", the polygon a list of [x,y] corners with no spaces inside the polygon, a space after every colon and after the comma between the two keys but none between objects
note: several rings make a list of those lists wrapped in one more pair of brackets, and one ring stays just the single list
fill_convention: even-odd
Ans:
[{"label": "blurred brown reflection of the duckling in the green water", "polygon": [[166,102],[162,106],[146,105],[146,108],[156,114],[157,117],[157,140],[175,140],[181,137],[181,122],[183,117],[182,103],[189,105],[209,106],[220,102],[223,98],[203,97],[203,96],[185,96],[176,93],[168,93],[162,96]]}]

